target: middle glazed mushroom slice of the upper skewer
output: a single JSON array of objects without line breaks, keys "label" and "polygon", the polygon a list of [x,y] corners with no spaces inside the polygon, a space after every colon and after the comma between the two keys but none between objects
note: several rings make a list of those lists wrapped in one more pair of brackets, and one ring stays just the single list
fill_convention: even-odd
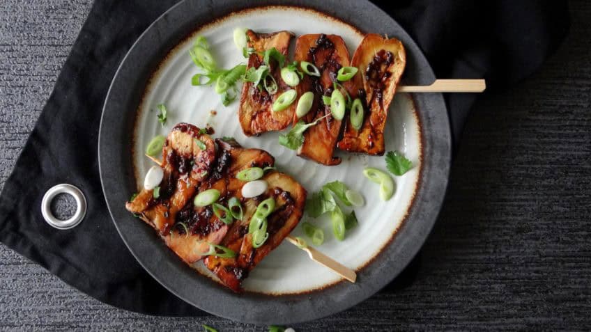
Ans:
[{"label": "middle glazed mushroom slice of the upper skewer", "polygon": [[[318,125],[310,127],[304,133],[304,143],[298,155],[307,157],[325,165],[337,165],[341,159],[334,157],[335,145],[341,132],[341,120],[332,117],[330,105],[322,102],[322,96],[330,96],[337,81],[337,72],[349,65],[349,53],[343,38],[338,35],[311,34],[302,35],[296,42],[295,60],[312,63],[320,71],[320,77],[305,75],[297,86],[298,96],[312,91],[314,103],[312,109],[302,117],[306,123],[323,118]],[[350,83],[346,82],[347,88]],[[295,109],[293,106],[292,109]],[[293,113],[293,123],[298,122]]]}]

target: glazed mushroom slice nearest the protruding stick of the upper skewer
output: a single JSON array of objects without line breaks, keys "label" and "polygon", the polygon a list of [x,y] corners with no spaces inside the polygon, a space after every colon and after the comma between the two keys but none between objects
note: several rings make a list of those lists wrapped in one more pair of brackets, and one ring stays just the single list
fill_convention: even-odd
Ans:
[{"label": "glazed mushroom slice nearest the protruding stick of the upper skewer", "polygon": [[406,65],[404,46],[395,38],[369,33],[355,50],[351,65],[359,68],[357,88],[351,91],[351,97],[364,101],[364,118],[357,130],[346,116],[343,138],[337,146],[348,152],[383,155],[387,111]]}]

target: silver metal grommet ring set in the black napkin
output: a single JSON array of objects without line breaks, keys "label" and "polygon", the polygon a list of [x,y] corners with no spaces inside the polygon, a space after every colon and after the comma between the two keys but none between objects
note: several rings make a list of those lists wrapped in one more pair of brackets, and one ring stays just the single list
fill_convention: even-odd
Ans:
[{"label": "silver metal grommet ring set in the black napkin", "polygon": [[[72,218],[68,220],[57,219],[52,213],[52,200],[60,193],[69,193],[76,200],[76,212]],[[74,228],[86,215],[86,198],[84,198],[84,193],[82,193],[77,187],[72,186],[72,184],[67,183],[51,187],[45,195],[43,195],[43,200],[41,200],[41,214],[43,214],[43,219],[54,228],[59,230],[69,230],[70,228]]]}]

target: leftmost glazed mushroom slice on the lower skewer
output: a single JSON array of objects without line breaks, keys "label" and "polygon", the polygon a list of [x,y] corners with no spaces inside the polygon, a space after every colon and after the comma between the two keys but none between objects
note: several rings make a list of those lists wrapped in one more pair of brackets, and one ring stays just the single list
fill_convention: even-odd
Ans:
[{"label": "leftmost glazed mushroom slice on the lower skewer", "polygon": [[169,134],[162,155],[164,160],[160,167],[164,176],[158,186],[158,198],[154,198],[153,189],[142,189],[125,208],[152,226],[185,262],[194,262],[201,258],[199,253],[204,252],[203,248],[207,249],[199,240],[219,243],[227,231],[215,217],[201,211],[190,216],[195,223],[212,224],[207,232],[187,233],[177,222],[179,216],[187,214],[187,207],[192,207],[197,186],[215,166],[215,143],[198,127],[180,123]]}]

